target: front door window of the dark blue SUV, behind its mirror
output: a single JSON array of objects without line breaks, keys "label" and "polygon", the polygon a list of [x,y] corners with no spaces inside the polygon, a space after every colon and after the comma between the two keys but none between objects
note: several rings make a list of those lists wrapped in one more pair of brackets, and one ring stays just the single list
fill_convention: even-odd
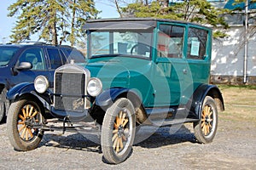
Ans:
[{"label": "front door window of the dark blue SUV, behind its mirror", "polygon": [[28,48],[21,55],[20,62],[30,62],[32,64],[33,71],[44,71],[45,60],[42,48]]}]

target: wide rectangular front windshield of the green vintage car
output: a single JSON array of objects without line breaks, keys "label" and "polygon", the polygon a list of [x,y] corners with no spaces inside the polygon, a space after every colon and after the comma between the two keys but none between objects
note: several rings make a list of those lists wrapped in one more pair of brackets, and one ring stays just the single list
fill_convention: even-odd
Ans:
[{"label": "wide rectangular front windshield of the green vintage car", "polygon": [[152,31],[92,31],[89,58],[129,55],[149,58]]}]

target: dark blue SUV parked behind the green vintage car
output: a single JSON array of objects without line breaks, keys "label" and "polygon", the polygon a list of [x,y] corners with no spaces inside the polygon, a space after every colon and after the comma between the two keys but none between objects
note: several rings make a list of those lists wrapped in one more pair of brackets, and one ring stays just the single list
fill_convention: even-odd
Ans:
[{"label": "dark blue SUV parked behind the green vintage car", "polygon": [[33,82],[44,75],[53,87],[55,69],[74,59],[85,62],[84,55],[70,46],[53,46],[43,42],[0,45],[0,122],[9,110],[7,91],[21,82]]}]

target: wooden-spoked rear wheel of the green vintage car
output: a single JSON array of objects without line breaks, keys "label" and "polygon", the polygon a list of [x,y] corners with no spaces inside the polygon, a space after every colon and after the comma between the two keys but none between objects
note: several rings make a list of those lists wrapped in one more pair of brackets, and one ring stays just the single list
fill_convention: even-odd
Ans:
[{"label": "wooden-spoked rear wheel of the green vintage car", "polygon": [[218,110],[212,97],[204,99],[201,109],[201,119],[194,122],[195,138],[199,143],[211,143],[218,127]]}]

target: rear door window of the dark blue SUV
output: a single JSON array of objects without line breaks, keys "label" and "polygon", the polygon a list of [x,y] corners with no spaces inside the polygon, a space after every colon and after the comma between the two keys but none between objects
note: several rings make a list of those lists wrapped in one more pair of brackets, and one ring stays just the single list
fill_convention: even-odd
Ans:
[{"label": "rear door window of the dark blue SUV", "polygon": [[51,69],[56,69],[62,65],[61,54],[58,49],[47,48],[47,53],[49,55]]}]

